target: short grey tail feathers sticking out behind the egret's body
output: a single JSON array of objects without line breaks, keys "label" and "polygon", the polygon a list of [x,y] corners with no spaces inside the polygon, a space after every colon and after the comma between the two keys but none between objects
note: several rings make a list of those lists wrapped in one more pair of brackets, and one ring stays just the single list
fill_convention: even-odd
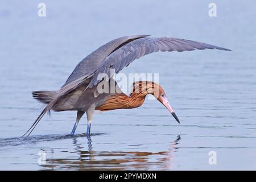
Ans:
[{"label": "short grey tail feathers sticking out behind the egret's body", "polygon": [[32,96],[44,104],[49,104],[56,98],[56,91],[35,91],[32,92]]}]

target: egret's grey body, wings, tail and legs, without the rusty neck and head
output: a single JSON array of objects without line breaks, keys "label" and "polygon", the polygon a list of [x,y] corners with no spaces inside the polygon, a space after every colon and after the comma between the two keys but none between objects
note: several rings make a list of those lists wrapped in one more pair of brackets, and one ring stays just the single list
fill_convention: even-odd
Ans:
[{"label": "egret's grey body, wings, tail and legs, without the rusty neck and head", "polygon": [[[104,104],[110,94],[96,94],[96,87],[101,80],[98,80],[100,73],[106,73],[111,78],[110,68],[115,73],[127,67],[132,61],[141,56],[157,51],[192,51],[195,49],[229,49],[213,46],[210,44],[195,42],[192,40],[177,38],[151,38],[148,35],[125,36],[114,39],[96,51],[85,57],[77,64],[74,71],[68,77],[65,84],[56,91],[33,92],[33,96],[47,104],[42,113],[30,127],[26,134],[34,130],[43,115],[49,110],[64,111],[77,110],[77,122],[73,128],[75,132],[77,123],[84,113],[87,114],[88,125],[96,106]],[[110,83],[109,83],[110,84]],[[116,84],[116,83],[114,83]],[[25,135],[26,135],[25,134]]]}]

